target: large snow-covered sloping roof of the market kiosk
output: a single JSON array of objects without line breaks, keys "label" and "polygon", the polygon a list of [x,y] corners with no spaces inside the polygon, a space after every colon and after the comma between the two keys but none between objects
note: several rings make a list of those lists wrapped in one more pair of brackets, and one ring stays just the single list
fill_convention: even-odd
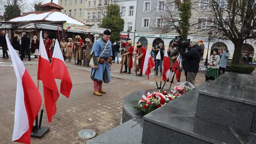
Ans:
[{"label": "large snow-covered sloping roof of the market kiosk", "polygon": [[19,16],[8,20],[10,22],[32,22],[32,21],[66,21],[67,23],[76,25],[85,25],[83,22],[74,19],[57,9],[51,9],[49,11],[35,11],[26,15]]}]

